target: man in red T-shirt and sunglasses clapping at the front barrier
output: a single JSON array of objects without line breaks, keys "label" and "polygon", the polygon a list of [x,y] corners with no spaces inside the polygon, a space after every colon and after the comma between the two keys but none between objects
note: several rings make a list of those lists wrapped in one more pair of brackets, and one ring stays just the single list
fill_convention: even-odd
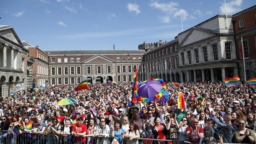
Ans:
[{"label": "man in red T-shirt and sunglasses clapping at the front barrier", "polygon": [[200,139],[204,137],[204,130],[199,126],[197,118],[192,118],[191,126],[186,128],[186,136],[192,144],[199,143]]}]

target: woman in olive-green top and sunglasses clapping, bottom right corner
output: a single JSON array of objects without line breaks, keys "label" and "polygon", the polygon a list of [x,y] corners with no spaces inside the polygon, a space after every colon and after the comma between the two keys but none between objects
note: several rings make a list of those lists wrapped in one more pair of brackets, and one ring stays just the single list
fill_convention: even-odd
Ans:
[{"label": "woman in olive-green top and sunglasses clapping, bottom right corner", "polygon": [[245,119],[240,119],[238,121],[239,128],[234,133],[234,142],[235,143],[247,143],[247,144],[255,144],[256,137],[252,130],[246,128],[247,121]]}]

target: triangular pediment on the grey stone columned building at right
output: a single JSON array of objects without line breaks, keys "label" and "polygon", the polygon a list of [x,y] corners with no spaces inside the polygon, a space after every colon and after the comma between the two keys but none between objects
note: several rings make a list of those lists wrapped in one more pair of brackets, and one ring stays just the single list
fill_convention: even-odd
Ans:
[{"label": "triangular pediment on the grey stone columned building at right", "polygon": [[206,38],[214,36],[214,35],[216,35],[215,32],[202,30],[199,28],[193,28],[186,35],[186,37],[181,41],[179,46],[185,46],[185,45],[206,39]]}]

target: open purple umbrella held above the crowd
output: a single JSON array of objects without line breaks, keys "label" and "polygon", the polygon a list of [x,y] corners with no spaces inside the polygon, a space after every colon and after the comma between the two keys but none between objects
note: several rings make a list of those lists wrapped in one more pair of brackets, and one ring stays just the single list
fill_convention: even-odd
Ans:
[{"label": "open purple umbrella held above the crowd", "polygon": [[138,96],[143,98],[155,97],[160,92],[162,84],[158,80],[147,80],[138,89]]}]

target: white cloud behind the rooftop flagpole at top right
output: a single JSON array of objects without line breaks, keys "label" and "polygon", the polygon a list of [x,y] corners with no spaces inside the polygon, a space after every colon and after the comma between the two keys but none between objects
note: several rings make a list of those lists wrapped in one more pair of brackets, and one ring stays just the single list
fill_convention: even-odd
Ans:
[{"label": "white cloud behind the rooftop flagpole at top right", "polygon": [[[234,14],[236,12],[241,11],[241,6],[242,4],[242,0],[232,0],[228,3],[226,3],[226,9],[227,9],[227,14]],[[225,14],[225,4],[222,3],[219,11],[221,12],[221,14]]]}]

